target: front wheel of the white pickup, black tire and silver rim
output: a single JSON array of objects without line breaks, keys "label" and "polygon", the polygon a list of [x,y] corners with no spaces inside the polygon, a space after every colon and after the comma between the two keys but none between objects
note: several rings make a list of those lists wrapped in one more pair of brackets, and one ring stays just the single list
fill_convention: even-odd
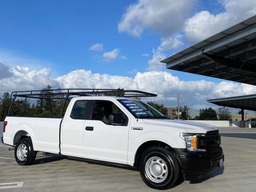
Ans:
[{"label": "front wheel of the white pickup, black tire and silver rim", "polygon": [[165,148],[150,148],[140,159],[140,176],[151,188],[163,190],[172,187],[179,173],[176,157]]}]

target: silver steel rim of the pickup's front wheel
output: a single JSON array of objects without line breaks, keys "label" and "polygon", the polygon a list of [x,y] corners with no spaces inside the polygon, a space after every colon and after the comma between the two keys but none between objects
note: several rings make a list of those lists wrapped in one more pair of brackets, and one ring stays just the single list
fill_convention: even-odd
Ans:
[{"label": "silver steel rim of the pickup's front wheel", "polygon": [[160,157],[150,157],[145,164],[145,172],[148,178],[156,183],[163,182],[167,178],[168,167]]}]

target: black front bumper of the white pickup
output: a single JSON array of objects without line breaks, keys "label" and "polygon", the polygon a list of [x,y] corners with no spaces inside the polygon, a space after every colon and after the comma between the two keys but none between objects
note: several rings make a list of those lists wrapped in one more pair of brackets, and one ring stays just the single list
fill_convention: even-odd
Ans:
[{"label": "black front bumper of the white pickup", "polygon": [[222,148],[215,154],[206,152],[187,152],[186,149],[175,149],[182,167],[184,180],[200,180],[219,167],[219,159],[224,155]]}]

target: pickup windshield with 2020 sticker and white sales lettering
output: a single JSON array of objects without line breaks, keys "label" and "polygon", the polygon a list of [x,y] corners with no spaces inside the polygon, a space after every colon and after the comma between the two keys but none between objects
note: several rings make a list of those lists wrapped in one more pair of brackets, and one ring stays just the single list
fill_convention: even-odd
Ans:
[{"label": "pickup windshield with 2020 sticker and white sales lettering", "polygon": [[118,99],[118,101],[136,118],[168,118],[142,101],[125,99]]}]

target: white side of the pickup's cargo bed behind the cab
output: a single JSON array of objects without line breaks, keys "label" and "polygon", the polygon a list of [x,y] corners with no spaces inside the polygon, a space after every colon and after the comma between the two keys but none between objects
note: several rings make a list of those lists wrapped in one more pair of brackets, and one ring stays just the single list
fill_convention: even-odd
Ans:
[{"label": "white side of the pickup's cargo bed behind the cab", "polygon": [[60,117],[7,116],[7,126],[3,133],[4,143],[14,145],[20,139],[18,130],[31,136],[35,151],[59,153]]}]

